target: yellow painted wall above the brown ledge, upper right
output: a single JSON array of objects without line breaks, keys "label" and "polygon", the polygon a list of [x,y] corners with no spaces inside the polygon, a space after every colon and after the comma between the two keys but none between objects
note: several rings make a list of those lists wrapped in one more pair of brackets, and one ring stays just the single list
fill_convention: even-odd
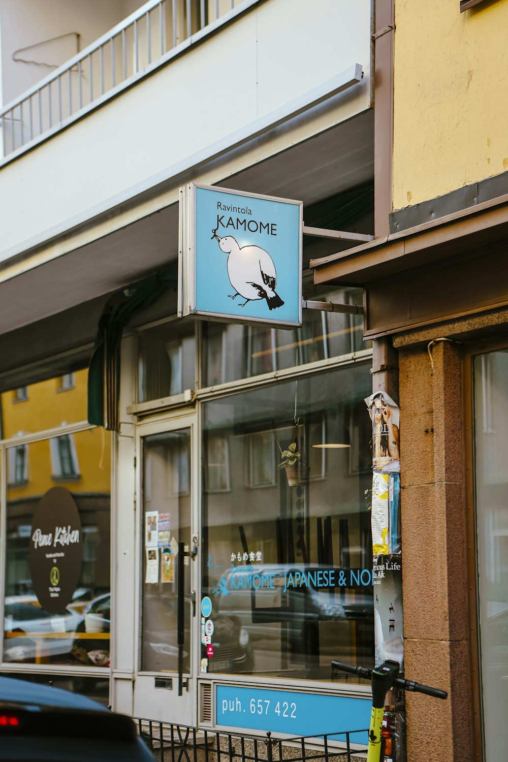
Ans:
[{"label": "yellow painted wall above the brown ledge, upper right", "polygon": [[393,208],[508,170],[508,2],[395,0]]}]

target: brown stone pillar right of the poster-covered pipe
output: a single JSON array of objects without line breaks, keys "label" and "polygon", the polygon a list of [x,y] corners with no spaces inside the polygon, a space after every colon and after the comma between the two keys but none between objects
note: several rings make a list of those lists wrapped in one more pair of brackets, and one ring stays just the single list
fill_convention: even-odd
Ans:
[{"label": "brown stone pillar right of the poster-covered pipe", "polygon": [[407,693],[407,759],[468,762],[470,696],[467,538],[460,344],[399,350],[404,665],[446,701]]}]

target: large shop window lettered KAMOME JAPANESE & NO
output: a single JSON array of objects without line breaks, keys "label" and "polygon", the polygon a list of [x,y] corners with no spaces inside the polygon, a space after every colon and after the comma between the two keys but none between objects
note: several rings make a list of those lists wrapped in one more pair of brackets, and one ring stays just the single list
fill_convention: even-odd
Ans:
[{"label": "large shop window lettered KAMOME JAPANESE & NO", "polygon": [[203,404],[202,672],[373,664],[369,393],[359,365]]}]

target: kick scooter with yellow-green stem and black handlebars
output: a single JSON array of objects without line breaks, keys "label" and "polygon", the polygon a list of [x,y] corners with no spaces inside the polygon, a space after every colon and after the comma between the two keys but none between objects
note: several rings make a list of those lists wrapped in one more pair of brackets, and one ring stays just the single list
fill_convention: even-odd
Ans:
[{"label": "kick scooter with yellow-green stem and black handlebars", "polygon": [[341,672],[350,672],[350,674],[357,674],[359,677],[371,681],[372,713],[370,716],[367,762],[383,762],[385,756],[385,739],[382,738],[381,731],[383,712],[385,709],[385,696],[388,693],[388,690],[391,690],[391,688],[396,685],[404,690],[427,693],[427,696],[435,696],[436,699],[446,699],[446,696],[448,696],[446,690],[431,688],[428,685],[415,683],[414,680],[404,680],[404,677],[399,677],[398,671],[400,665],[397,661],[385,661],[375,669],[355,667],[354,664],[344,664],[343,661],[332,661],[331,666],[333,669]]}]

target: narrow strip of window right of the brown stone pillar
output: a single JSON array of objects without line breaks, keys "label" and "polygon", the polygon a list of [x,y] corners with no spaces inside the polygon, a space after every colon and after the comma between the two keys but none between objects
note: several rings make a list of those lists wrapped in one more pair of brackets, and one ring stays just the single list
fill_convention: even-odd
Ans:
[{"label": "narrow strip of window right of the brown stone pillar", "polygon": [[485,758],[508,744],[508,350],[474,358],[474,476]]}]

